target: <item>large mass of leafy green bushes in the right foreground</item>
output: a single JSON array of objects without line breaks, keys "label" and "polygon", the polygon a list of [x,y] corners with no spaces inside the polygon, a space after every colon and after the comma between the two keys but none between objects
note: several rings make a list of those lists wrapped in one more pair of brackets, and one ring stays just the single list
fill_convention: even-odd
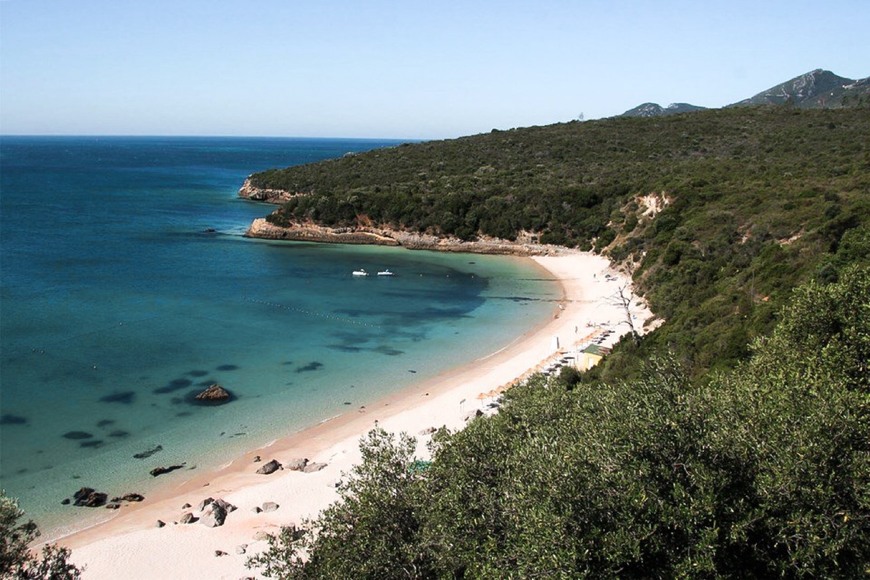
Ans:
[{"label": "large mass of leafy green bushes in the right foreground", "polygon": [[282,578],[857,578],[870,573],[870,269],[793,293],[705,381],[538,376],[413,444],[375,431],[342,499],[252,561]]}]

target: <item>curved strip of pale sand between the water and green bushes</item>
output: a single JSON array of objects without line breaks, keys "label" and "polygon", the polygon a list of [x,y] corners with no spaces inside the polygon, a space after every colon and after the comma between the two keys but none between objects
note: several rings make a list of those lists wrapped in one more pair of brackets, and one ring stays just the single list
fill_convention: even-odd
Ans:
[{"label": "curved strip of pale sand between the water and green bushes", "polygon": [[[425,433],[430,427],[462,428],[469,415],[478,409],[489,410],[487,405],[493,398],[487,394],[571,352],[598,328],[612,331],[604,346],[629,331],[624,309],[612,300],[628,279],[612,271],[606,259],[580,252],[532,259],[561,283],[562,300],[548,322],[529,329],[499,352],[364,410],[349,412],[240,457],[228,457],[228,463],[218,471],[199,473],[167,486],[141,504],[125,505],[111,521],[58,543],[72,549],[72,560],[85,566],[86,579],[260,577],[256,570],[245,567],[250,555],[266,547],[260,532],[274,533],[280,526],[298,524],[337,499],[336,483],[359,461],[360,437],[370,429],[377,425],[416,437],[418,454],[425,457]],[[650,314],[641,306],[633,307],[632,312],[640,329]],[[261,461],[255,460],[258,456]],[[309,473],[290,469],[270,475],[256,473],[272,459],[287,465],[299,458],[326,466]],[[206,498],[221,498],[238,509],[229,513],[220,527],[178,523],[186,512],[200,516],[197,507]],[[258,512],[266,502],[274,502],[277,509]],[[192,507],[183,507],[188,504]],[[159,527],[158,520],[165,526]]]}]

